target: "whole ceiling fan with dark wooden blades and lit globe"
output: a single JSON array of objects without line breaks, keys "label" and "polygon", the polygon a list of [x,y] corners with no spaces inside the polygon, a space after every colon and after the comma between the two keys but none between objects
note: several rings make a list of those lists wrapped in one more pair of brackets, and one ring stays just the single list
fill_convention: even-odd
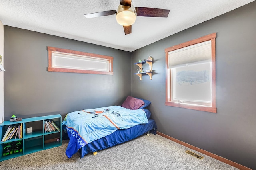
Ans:
[{"label": "whole ceiling fan with dark wooden blades and lit globe", "polygon": [[124,33],[132,33],[132,24],[136,20],[136,16],[145,17],[168,17],[170,10],[160,8],[148,8],[148,7],[134,7],[132,0],[120,0],[120,5],[117,10],[95,12],[91,14],[84,14],[86,18],[94,18],[100,16],[109,16],[116,14],[116,21],[123,25]]}]

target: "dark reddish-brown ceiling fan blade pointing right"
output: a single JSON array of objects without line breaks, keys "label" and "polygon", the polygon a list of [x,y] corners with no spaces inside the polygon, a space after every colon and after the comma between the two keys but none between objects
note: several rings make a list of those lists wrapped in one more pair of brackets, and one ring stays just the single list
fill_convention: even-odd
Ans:
[{"label": "dark reddish-brown ceiling fan blade pointing right", "polygon": [[160,8],[135,7],[137,16],[144,17],[168,17],[170,10]]}]

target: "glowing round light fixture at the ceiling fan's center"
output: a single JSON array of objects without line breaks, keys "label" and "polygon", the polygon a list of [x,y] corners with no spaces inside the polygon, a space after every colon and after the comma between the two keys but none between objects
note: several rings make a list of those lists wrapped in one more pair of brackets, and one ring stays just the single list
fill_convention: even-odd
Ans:
[{"label": "glowing round light fixture at the ceiling fan's center", "polygon": [[119,5],[116,11],[116,21],[123,26],[134,24],[136,16],[137,13],[133,5],[131,7]]}]

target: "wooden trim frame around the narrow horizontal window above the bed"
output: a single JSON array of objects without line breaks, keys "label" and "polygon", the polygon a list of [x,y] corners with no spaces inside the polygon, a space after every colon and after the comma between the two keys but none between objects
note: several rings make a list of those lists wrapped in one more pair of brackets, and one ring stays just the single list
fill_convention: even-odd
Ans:
[{"label": "wooden trim frame around the narrow horizontal window above the bed", "polygon": [[[86,53],[82,51],[74,51],[69,49],[61,49],[57,47],[47,47],[48,50],[48,71],[50,72],[71,72],[71,73],[87,73],[87,74],[105,74],[105,75],[113,75],[113,57],[106,55],[99,55],[93,53]],[[78,70],[78,69],[68,69],[68,68],[54,68],[52,67],[52,52],[58,51],[62,53],[70,53],[75,55],[83,55],[88,57],[95,57],[99,59],[107,59],[109,61],[109,71],[94,71],[94,70]]]}]

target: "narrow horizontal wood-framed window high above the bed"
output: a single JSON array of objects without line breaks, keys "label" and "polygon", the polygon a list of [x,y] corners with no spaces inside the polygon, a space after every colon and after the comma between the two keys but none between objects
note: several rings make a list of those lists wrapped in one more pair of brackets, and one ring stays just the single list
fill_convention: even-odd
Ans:
[{"label": "narrow horizontal wood-framed window high above the bed", "polygon": [[113,75],[113,57],[48,47],[48,71]]}]

